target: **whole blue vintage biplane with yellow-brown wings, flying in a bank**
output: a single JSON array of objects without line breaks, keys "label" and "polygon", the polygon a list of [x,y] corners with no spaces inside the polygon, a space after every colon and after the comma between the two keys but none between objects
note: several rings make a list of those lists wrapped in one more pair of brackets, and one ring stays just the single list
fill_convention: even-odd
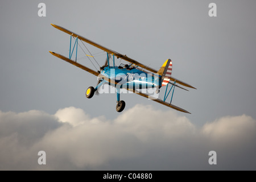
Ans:
[{"label": "whole blue vintage biplane with yellow-brown wings, flying in a bank", "polygon": [[[67,61],[68,63],[71,63],[75,65],[76,67],[79,67],[81,69],[84,69],[85,71],[92,73],[93,75],[98,77],[98,83],[95,88],[93,86],[90,86],[86,90],[86,97],[92,98],[94,95],[94,92],[97,92],[97,90],[103,85],[108,84],[110,86],[113,86],[117,93],[117,106],[116,110],[118,112],[121,112],[125,108],[125,101],[120,100],[120,89],[126,89],[133,93],[139,94],[140,96],[146,97],[152,101],[158,102],[160,104],[163,104],[165,106],[171,107],[172,109],[176,109],[179,111],[182,111],[184,113],[189,113],[187,110],[181,109],[180,107],[177,107],[175,105],[172,105],[172,97],[174,95],[174,89],[175,86],[187,90],[185,88],[182,88],[181,86],[177,85],[183,85],[187,86],[188,88],[194,88],[193,86],[180,81],[174,77],[171,76],[172,73],[172,61],[171,59],[168,59],[164,62],[162,67],[159,69],[159,71],[156,71],[153,68],[148,67],[147,65],[141,64],[138,61],[135,61],[131,59],[130,57],[127,57],[126,55],[122,55],[121,53],[115,52],[112,49],[106,48],[104,46],[101,46],[100,44],[97,44],[95,42],[92,42],[89,39],[86,39],[78,34],[75,34],[74,32],[71,32],[63,27],[57,26],[56,24],[51,24],[53,27],[71,35],[70,40],[70,46],[69,46],[69,57],[65,57],[63,55],[60,55],[56,52],[49,51],[53,56],[59,57],[60,59],[63,59],[64,61]],[[75,39],[75,44],[73,47],[71,47],[72,37]],[[95,46],[97,48],[102,49],[106,52],[106,61],[105,65],[102,65],[100,67],[99,71],[94,71],[88,67],[85,67],[84,65],[77,63],[77,44],[78,41],[85,42],[88,44],[91,44],[92,46]],[[82,43],[84,44],[84,43]],[[76,47],[76,58],[75,60],[71,60],[73,51]],[[88,50],[89,51],[89,50]],[[84,52],[85,53],[85,52]],[[93,57],[91,54],[88,55],[85,53],[88,57]],[[113,65],[110,66],[110,57],[113,56]],[[117,59],[122,59],[125,61],[128,61],[130,64],[120,64],[119,66],[115,66],[114,57],[117,57]],[[168,84],[172,85],[171,88],[168,90]],[[152,96],[152,94],[147,94],[146,92],[143,92],[143,89],[156,89],[155,93],[159,93],[159,89],[162,86],[166,86],[166,91],[164,94],[164,99],[160,100],[158,97]],[[173,89],[172,89],[173,88]],[[172,90],[171,95],[171,101],[166,102],[166,99],[168,95],[170,94]]]}]

